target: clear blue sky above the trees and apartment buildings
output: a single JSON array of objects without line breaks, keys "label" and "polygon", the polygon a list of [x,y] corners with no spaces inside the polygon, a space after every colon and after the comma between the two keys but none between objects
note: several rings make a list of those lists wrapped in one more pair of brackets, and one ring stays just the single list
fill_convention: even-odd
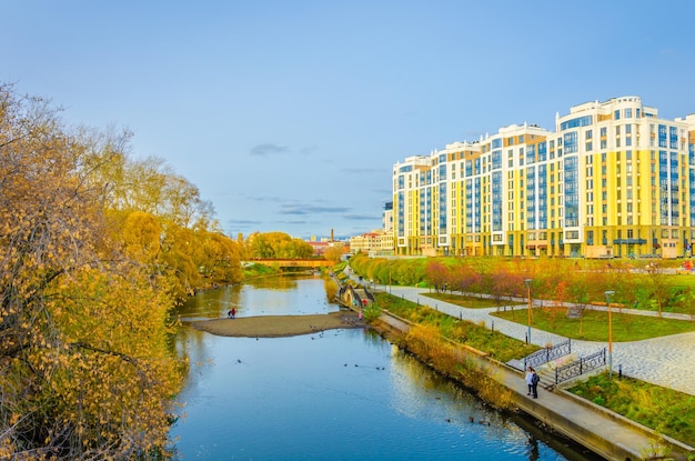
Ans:
[{"label": "clear blue sky above the trees and apartment buildings", "polygon": [[381,227],[392,168],[638,96],[695,112],[692,1],[0,0],[0,82],[134,133],[230,235]]}]

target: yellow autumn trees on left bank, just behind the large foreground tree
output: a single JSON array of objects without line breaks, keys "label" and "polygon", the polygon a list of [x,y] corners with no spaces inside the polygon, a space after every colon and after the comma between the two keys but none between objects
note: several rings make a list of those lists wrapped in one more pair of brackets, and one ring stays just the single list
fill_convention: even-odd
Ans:
[{"label": "yellow autumn trees on left bank, just behind the large foreground tree", "polygon": [[243,245],[224,235],[212,204],[161,159],[128,156],[130,133],[80,131],[89,180],[103,187],[114,234],[128,255],[167,278],[181,302],[197,289],[242,280]]}]

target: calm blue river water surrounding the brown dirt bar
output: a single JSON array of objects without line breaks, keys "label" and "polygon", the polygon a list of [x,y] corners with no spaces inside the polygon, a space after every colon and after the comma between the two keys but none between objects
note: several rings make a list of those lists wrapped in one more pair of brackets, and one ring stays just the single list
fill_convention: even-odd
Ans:
[{"label": "calm blue river water surrounding the brown dirt bar", "polygon": [[[171,434],[183,460],[572,460],[601,458],[491,410],[371,330],[223,338],[187,322],[326,313],[320,278],[201,292],[180,310],[190,373]],[[233,321],[233,320],[230,320]]]}]

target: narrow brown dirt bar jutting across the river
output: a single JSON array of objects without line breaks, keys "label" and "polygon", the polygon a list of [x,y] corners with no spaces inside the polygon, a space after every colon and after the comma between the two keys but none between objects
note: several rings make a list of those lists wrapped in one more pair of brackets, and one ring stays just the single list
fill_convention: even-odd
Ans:
[{"label": "narrow brown dirt bar jutting across the river", "polygon": [[349,310],[312,315],[238,317],[212,319],[192,323],[193,328],[220,337],[281,338],[310,334],[316,331],[361,328],[364,321]]}]

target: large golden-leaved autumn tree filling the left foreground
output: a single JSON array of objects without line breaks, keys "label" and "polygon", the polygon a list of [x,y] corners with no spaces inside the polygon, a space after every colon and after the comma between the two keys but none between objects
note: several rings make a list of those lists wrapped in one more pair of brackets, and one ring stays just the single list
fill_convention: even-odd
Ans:
[{"label": "large golden-leaved autumn tree filling the left foreground", "polygon": [[0,87],[1,459],[125,460],[168,443],[173,302],[140,262],[157,258],[157,226],[133,216],[143,229],[114,232],[89,149],[48,101]]}]

